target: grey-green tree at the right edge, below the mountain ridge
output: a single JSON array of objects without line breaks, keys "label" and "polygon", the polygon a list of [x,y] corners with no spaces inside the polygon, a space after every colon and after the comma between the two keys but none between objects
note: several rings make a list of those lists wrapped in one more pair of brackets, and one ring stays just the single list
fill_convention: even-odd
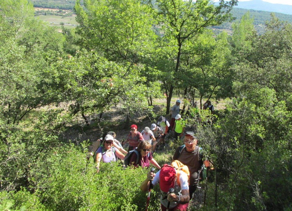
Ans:
[{"label": "grey-green tree at the right edge, below the mountain ridge", "polygon": [[[291,105],[291,24],[280,22],[273,14],[267,22],[263,35],[253,34],[247,37],[250,42],[249,51],[241,51],[235,67],[238,83],[234,88],[239,94],[251,96],[259,88],[275,91],[279,101]],[[256,80],[255,80],[256,79]],[[257,101],[257,95],[253,101]]]}]

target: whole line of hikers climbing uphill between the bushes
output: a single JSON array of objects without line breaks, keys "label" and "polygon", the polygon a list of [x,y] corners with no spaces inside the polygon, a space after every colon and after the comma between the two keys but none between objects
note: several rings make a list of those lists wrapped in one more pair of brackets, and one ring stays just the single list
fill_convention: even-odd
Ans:
[{"label": "whole line of hikers climbing uphill between the bushes", "polygon": [[[159,169],[154,173],[154,168],[147,173],[147,178],[140,185],[141,191],[151,189],[152,185],[159,183],[161,191],[160,203],[161,210],[186,210],[189,201],[192,199],[194,191],[200,179],[203,168],[210,166],[210,161],[204,159],[201,148],[197,145],[198,139],[194,132],[188,131],[183,138],[183,145],[179,146],[173,155],[170,164],[159,166],[152,157],[157,145],[164,146],[164,138],[174,131],[175,140],[183,136],[185,126],[182,124],[182,117],[179,114],[181,101],[177,100],[171,108],[171,121],[160,116],[156,124],[145,127],[140,133],[137,125],[130,126],[130,133],[126,141],[120,143],[116,139],[116,134],[109,131],[103,139],[98,139],[87,156],[93,156],[96,163],[96,171],[99,172],[100,162],[124,160],[125,166],[136,168],[149,168],[150,163]],[[211,112],[214,109],[211,102],[204,103],[205,109]],[[129,144],[128,151],[124,150],[123,145]],[[149,192],[150,193],[150,192]],[[148,203],[147,203],[148,205]]]}]

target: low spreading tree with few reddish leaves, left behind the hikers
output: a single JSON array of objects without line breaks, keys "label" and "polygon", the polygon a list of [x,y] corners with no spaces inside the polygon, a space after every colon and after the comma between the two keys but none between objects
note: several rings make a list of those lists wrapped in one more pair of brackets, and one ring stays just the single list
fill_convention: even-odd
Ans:
[{"label": "low spreading tree with few reddish leaves, left behind the hikers", "polygon": [[96,52],[79,51],[68,55],[52,66],[50,74],[55,90],[62,101],[71,102],[70,113],[81,114],[87,125],[86,115],[103,113],[120,103],[127,116],[133,112],[149,113],[144,93],[145,78],[140,75],[143,66],[132,68],[108,61]]}]

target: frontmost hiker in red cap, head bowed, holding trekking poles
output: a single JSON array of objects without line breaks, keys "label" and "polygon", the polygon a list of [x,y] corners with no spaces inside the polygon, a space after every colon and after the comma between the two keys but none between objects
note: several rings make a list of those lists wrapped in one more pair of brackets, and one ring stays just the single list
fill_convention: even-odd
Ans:
[{"label": "frontmost hiker in red cap, head bowed, holding trekking poles", "polygon": [[[175,170],[172,166],[164,164],[161,170],[156,174],[152,171],[147,173],[147,179],[144,180],[140,186],[141,191],[146,192],[148,190],[150,181],[152,181],[153,185],[159,183],[162,211],[166,211],[166,208],[168,207],[169,211],[187,210],[190,201],[190,194],[188,176],[185,172]],[[173,193],[168,192],[170,188],[174,189]]]}]

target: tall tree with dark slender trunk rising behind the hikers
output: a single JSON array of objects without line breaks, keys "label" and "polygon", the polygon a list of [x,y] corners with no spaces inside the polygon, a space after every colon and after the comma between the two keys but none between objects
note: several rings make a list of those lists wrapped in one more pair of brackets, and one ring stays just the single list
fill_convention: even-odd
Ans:
[{"label": "tall tree with dark slender trunk rising behind the hikers", "polygon": [[[175,81],[175,74],[179,74],[180,56],[184,52],[187,41],[201,34],[208,26],[216,26],[224,21],[231,20],[230,10],[237,4],[237,0],[224,2],[220,0],[219,6],[214,6],[208,0],[193,1],[158,0],[158,20],[163,26],[164,42],[174,45],[176,56],[173,58],[175,66],[171,72]],[[170,102],[175,84],[170,82],[167,94],[166,114],[169,113]]]}]

